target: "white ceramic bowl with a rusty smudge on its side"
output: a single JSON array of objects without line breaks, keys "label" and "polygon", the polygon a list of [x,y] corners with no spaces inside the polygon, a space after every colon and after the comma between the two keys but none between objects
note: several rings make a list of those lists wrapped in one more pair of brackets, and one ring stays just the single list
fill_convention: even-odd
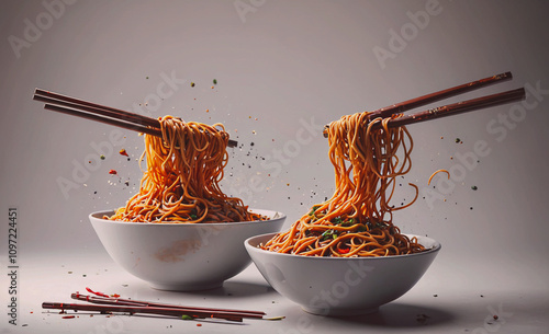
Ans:
[{"label": "white ceramic bowl with a rusty smudge on its side", "polygon": [[113,211],[90,215],[90,221],[111,257],[130,274],[161,290],[221,287],[251,260],[244,241],[278,232],[285,216],[254,210],[270,220],[221,223],[143,223],[103,219]]}]

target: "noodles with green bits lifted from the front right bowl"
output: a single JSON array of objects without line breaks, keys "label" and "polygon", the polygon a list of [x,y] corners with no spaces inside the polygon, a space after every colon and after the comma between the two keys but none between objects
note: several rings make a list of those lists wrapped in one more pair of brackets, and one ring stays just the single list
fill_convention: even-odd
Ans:
[{"label": "noodles with green bits lifted from the front right bowl", "polygon": [[[369,119],[359,113],[333,122],[328,129],[329,159],[336,189],[287,232],[260,245],[265,250],[306,256],[386,256],[422,252],[392,223],[390,206],[395,177],[410,171],[413,141],[407,129],[389,128],[391,118]],[[397,117],[397,116],[393,116]]]}]

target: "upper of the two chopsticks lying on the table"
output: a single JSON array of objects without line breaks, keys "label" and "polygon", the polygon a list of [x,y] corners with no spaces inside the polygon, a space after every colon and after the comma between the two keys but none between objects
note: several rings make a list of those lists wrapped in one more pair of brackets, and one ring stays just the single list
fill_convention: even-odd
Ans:
[{"label": "upper of the two chopsticks lying on the table", "polygon": [[81,301],[88,301],[91,303],[98,303],[98,304],[156,307],[156,308],[178,309],[178,310],[188,311],[188,312],[193,312],[193,311],[211,312],[211,313],[223,312],[226,314],[236,314],[236,315],[239,315],[242,318],[262,319],[262,316],[266,315],[266,313],[261,312],[261,311],[183,307],[183,306],[165,304],[165,303],[149,302],[149,301],[138,301],[138,300],[133,300],[133,299],[87,296],[87,295],[80,295],[78,292],[71,293],[70,298],[81,300]]}]

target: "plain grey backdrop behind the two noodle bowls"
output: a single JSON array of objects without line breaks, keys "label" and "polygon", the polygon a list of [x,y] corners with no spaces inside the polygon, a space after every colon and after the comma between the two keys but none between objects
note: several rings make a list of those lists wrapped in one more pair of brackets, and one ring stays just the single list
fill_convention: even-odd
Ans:
[{"label": "plain grey backdrop behind the two noodle bowls", "polygon": [[[393,221],[442,243],[433,283],[467,290],[483,277],[486,287],[528,288],[547,304],[549,3],[433,3],[76,1],[51,9],[54,18],[40,1],[2,1],[0,201],[3,220],[8,207],[19,209],[21,258],[103,256],[87,217],[124,205],[142,175],[143,137],[44,111],[32,101],[35,88],[152,117],[223,123],[243,145],[229,153],[224,189],[285,212],[288,227],[334,189],[327,140],[315,126],[512,71],[511,82],[447,102],[537,87],[522,108],[408,127],[413,169],[395,204],[413,197],[408,182],[422,193]],[[434,14],[418,14],[432,4]],[[13,47],[14,38],[26,44]],[[376,49],[391,57],[380,61]],[[166,77],[177,80],[170,87]],[[109,143],[119,133],[123,142]],[[94,147],[112,153],[99,160]],[[451,183],[440,174],[427,187],[438,169],[455,172]],[[60,180],[75,187],[64,194]]]}]

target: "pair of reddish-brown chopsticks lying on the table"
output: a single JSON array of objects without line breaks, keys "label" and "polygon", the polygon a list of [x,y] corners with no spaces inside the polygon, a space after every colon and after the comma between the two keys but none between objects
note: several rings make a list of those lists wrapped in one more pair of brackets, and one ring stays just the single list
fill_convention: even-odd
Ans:
[{"label": "pair of reddish-brown chopsticks lying on the table", "polygon": [[70,297],[76,300],[87,301],[87,303],[65,303],[65,302],[43,302],[43,309],[56,310],[74,310],[74,311],[94,311],[101,313],[144,313],[144,314],[158,314],[167,316],[176,316],[188,320],[199,319],[219,319],[232,322],[243,322],[243,319],[262,319],[262,320],[278,320],[281,318],[265,319],[265,312],[261,311],[245,311],[245,310],[228,310],[228,309],[210,309],[197,307],[182,307],[173,304],[164,304],[148,301],[137,301],[133,299],[123,299],[114,297],[100,297],[80,295],[78,292],[71,293]]}]

